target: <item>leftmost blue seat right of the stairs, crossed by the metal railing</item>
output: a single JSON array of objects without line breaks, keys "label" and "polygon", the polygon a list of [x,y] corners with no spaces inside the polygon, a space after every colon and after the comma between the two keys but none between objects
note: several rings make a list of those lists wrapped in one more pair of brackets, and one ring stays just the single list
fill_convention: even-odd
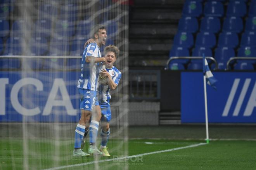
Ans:
[{"label": "leftmost blue seat right of the stairs, crossed by the metal railing", "polygon": [[[189,49],[181,46],[173,46],[170,50],[169,57],[189,57]],[[187,63],[189,59],[175,59],[175,63]]]}]

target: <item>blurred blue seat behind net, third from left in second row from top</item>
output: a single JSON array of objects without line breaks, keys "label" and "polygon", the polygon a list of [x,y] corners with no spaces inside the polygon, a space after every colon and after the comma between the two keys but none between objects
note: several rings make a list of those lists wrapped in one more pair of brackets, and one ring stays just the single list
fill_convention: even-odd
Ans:
[{"label": "blurred blue seat behind net, third from left in second row from top", "polygon": [[39,19],[35,22],[34,37],[49,38],[51,35],[52,21],[49,19]]}]

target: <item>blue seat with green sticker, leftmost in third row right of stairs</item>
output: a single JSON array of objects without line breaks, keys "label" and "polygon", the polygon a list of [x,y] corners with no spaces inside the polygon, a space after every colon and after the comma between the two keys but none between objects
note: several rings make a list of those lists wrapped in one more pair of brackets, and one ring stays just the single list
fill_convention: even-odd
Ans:
[{"label": "blue seat with green sticker, leftmost in third row right of stairs", "polygon": [[194,45],[192,33],[178,32],[174,37],[173,45],[191,48]]}]

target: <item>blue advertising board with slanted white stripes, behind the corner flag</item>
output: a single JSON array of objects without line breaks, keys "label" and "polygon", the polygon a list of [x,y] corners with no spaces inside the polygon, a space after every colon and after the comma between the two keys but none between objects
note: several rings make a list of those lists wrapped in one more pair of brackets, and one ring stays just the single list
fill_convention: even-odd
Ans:
[{"label": "blue advertising board with slanted white stripes, behind the corner flag", "polygon": [[[256,72],[213,72],[206,85],[209,123],[256,123]],[[205,122],[202,72],[181,74],[181,122]]]}]

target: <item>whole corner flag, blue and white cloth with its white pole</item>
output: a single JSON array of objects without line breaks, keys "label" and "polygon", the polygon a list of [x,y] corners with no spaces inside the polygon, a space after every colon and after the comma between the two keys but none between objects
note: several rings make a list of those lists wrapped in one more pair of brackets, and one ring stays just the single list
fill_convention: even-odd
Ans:
[{"label": "whole corner flag, blue and white cloth with its white pole", "polygon": [[208,62],[203,54],[203,72],[204,72],[204,108],[205,108],[205,125],[206,125],[206,143],[209,143],[209,131],[208,131],[208,108],[207,108],[207,93],[206,93],[206,81],[207,84],[216,89],[215,83],[217,80],[213,77],[211,70],[209,69]]}]

